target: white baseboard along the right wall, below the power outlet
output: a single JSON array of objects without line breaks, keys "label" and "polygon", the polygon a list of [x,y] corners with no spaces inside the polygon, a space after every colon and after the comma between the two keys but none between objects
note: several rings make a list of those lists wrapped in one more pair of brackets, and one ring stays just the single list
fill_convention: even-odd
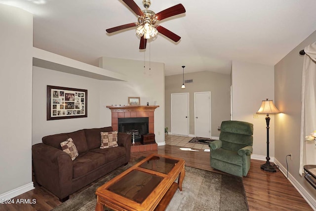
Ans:
[{"label": "white baseboard along the right wall, below the power outlet", "polygon": [[[286,178],[286,168],[283,167],[281,163],[277,160],[275,161],[275,164],[279,167],[279,170],[284,174]],[[292,174],[288,173],[287,179],[292,183],[295,189],[302,195],[302,197],[312,207],[312,209],[316,210],[316,200],[311,196],[311,194],[295,179],[295,177]]]}]

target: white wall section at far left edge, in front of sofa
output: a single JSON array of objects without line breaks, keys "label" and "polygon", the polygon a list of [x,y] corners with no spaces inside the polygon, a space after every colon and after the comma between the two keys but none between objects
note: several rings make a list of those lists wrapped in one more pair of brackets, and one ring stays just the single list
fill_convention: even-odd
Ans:
[{"label": "white wall section at far left edge, in front of sofa", "polygon": [[0,4],[0,30],[0,198],[3,198],[7,197],[4,193],[13,189],[33,188],[33,15]]}]

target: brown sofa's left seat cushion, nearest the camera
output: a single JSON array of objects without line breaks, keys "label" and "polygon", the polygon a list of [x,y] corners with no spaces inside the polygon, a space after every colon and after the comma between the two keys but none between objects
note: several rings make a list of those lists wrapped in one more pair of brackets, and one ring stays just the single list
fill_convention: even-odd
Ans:
[{"label": "brown sofa's left seat cushion, nearest the camera", "polygon": [[86,152],[73,162],[73,178],[82,176],[105,164],[105,157],[99,153]]}]

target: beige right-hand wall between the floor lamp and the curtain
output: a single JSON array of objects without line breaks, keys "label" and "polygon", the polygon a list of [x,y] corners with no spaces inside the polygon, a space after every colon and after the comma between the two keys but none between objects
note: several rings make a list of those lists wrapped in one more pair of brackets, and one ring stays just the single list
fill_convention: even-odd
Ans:
[{"label": "beige right-hand wall between the floor lamp and the curtain", "polygon": [[288,159],[289,173],[316,200],[315,189],[299,174],[300,158],[300,126],[301,126],[301,84],[303,56],[299,51],[316,41],[316,32],[296,46],[275,65],[275,98],[276,106],[283,112],[276,117],[275,157],[286,167],[285,157],[292,153],[292,161]]}]

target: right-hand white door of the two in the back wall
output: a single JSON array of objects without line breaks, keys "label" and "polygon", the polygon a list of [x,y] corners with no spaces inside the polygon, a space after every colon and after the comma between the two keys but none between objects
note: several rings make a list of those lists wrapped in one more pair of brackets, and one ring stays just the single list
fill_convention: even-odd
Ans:
[{"label": "right-hand white door of the two in the back wall", "polygon": [[211,137],[211,92],[195,92],[195,130],[196,137]]}]

